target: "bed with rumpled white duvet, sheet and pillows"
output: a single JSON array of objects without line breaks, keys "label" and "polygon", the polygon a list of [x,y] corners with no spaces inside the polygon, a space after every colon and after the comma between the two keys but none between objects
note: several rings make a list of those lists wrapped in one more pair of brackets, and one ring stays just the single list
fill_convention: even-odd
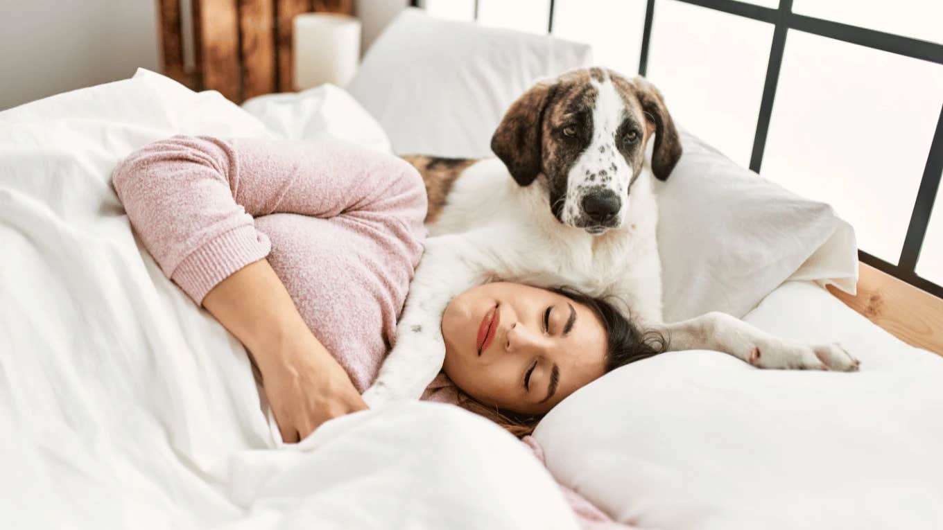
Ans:
[{"label": "bed with rumpled white duvet, sheet and pillows", "polygon": [[[576,528],[555,479],[640,528],[943,527],[943,359],[825,290],[854,296],[858,272],[853,231],[831,208],[689,133],[689,166],[660,203],[688,218],[663,221],[663,252],[720,238],[758,254],[705,245],[698,253],[715,267],[671,260],[667,312],[726,310],[787,338],[840,341],[860,373],[757,371],[713,352],[654,357],[540,423],[546,468],[495,425],[428,403],[351,415],[283,446],[244,349],[135,240],[110,172],[175,133],[473,156],[523,84],[590,60],[575,43],[434,27],[417,13],[395,24],[346,91],[240,108],[140,71],[0,113],[5,526]],[[397,31],[444,31],[455,48],[400,64],[384,52],[406,57]],[[462,49],[486,55],[441,75]],[[389,75],[423,68],[442,84]],[[770,238],[757,212],[788,223],[788,237]],[[764,266],[743,269],[754,262]]]}]

